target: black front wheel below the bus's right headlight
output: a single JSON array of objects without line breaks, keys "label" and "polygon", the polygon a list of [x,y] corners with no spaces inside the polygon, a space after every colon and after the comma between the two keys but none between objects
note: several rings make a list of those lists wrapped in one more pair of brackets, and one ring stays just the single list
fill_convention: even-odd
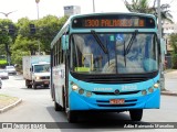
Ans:
[{"label": "black front wheel below the bus's right headlight", "polygon": [[129,114],[133,121],[140,121],[143,117],[143,109],[129,110]]}]

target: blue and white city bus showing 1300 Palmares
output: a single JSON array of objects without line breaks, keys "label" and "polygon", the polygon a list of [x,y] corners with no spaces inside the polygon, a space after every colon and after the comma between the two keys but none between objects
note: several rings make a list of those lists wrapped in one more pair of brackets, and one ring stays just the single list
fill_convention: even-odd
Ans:
[{"label": "blue and white city bus showing 1300 Palmares", "polygon": [[158,109],[160,44],[152,14],[72,15],[51,43],[51,95],[69,122],[81,111]]}]

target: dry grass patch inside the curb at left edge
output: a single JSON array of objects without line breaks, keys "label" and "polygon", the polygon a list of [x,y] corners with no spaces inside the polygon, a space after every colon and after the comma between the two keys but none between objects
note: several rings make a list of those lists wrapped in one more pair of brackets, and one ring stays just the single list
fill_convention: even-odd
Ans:
[{"label": "dry grass patch inside the curb at left edge", "polygon": [[0,94],[0,109],[15,102],[19,98]]}]

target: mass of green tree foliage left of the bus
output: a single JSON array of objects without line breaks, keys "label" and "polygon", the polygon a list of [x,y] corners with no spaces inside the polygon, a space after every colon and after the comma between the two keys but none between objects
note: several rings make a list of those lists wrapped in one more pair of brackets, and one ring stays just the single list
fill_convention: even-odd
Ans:
[{"label": "mass of green tree foliage left of the bus", "polygon": [[[50,53],[50,44],[60,29],[63,26],[67,16],[58,18],[46,15],[40,20],[20,19],[17,23],[8,19],[0,19],[0,55],[7,53],[11,55],[11,63],[18,64],[21,68],[22,56],[34,55],[39,51]],[[8,33],[8,26],[14,26],[14,34]],[[35,34],[30,34],[30,24],[35,25]]]}]

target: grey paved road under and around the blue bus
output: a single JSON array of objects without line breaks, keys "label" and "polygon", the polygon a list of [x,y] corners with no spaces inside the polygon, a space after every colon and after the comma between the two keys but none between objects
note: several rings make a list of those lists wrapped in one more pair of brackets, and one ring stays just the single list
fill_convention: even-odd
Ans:
[{"label": "grey paved road under and around the blue bus", "polygon": [[[50,89],[28,89],[24,86],[22,76],[10,76],[10,79],[3,80],[1,94],[19,97],[22,102],[15,108],[1,113],[0,122],[62,122],[60,123],[60,130],[52,131],[119,131],[125,129],[118,129],[114,122],[127,123],[127,124],[149,124],[150,122],[176,122],[177,124],[177,105],[176,98],[173,96],[162,96],[160,109],[144,110],[143,120],[140,122],[132,122],[128,112],[124,113],[86,113],[80,116],[80,123],[69,124],[66,114],[64,112],[55,112],[53,108],[53,101],[50,96]],[[85,122],[84,124],[81,122]],[[113,122],[113,123],[111,123]],[[53,125],[53,124],[52,124]],[[67,129],[69,127],[69,129]],[[74,128],[74,129],[73,129]],[[93,131],[92,130],[92,131]],[[167,131],[162,129],[150,129],[153,131]],[[31,130],[28,130],[31,132]],[[42,130],[42,132],[51,130]],[[131,130],[127,130],[131,131]],[[134,130],[142,131],[142,129]],[[144,131],[149,131],[145,129]],[[169,129],[175,131],[175,129]],[[7,131],[6,131],[7,132]],[[18,130],[19,132],[19,130]],[[33,132],[33,131],[32,131]]]}]

